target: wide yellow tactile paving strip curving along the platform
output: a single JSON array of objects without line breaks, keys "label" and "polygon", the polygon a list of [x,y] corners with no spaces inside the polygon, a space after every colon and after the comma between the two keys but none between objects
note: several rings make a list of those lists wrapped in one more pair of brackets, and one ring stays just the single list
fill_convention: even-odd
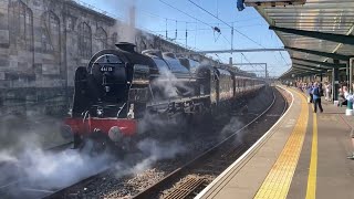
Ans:
[{"label": "wide yellow tactile paving strip curving along the platform", "polygon": [[[298,93],[298,92],[296,92]],[[295,172],[309,122],[309,105],[304,96],[301,98],[301,112],[283,150],[269,171],[254,198],[287,198]]]}]

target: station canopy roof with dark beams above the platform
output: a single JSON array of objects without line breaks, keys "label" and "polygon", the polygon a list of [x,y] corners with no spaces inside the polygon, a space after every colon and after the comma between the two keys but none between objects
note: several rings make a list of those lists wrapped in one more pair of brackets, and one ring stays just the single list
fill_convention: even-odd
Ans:
[{"label": "station canopy roof with dark beams above the platform", "polygon": [[291,69],[281,77],[345,67],[354,54],[354,0],[288,0],[283,4],[270,1],[244,3],[267,20],[292,59]]}]

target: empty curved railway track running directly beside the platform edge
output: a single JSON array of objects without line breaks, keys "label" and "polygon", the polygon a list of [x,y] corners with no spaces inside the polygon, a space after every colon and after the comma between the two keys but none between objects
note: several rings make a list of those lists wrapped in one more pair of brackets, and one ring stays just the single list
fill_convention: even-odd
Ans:
[{"label": "empty curved railway track running directly beside the platform edge", "polygon": [[[260,126],[261,122],[268,119],[270,128],[285,112],[287,107],[288,103],[280,92],[273,92],[273,102],[262,114],[258,115],[253,121],[220,142],[214,148],[176,169],[133,198],[194,198],[267,132],[259,129],[260,127],[258,126]],[[249,135],[239,138],[240,134],[244,132],[248,132]]]}]

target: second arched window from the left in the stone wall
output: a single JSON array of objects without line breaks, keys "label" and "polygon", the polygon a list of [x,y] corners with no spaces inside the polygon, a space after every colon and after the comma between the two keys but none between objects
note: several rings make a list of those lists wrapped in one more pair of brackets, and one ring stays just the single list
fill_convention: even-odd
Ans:
[{"label": "second arched window from the left in the stone wall", "polygon": [[60,20],[53,12],[44,12],[41,18],[42,51],[60,52]]}]

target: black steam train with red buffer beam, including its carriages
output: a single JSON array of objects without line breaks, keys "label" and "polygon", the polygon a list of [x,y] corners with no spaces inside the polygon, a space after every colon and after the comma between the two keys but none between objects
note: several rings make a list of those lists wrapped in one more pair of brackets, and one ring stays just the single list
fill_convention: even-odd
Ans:
[{"label": "black steam train with red buffer beam, including its carriages", "polygon": [[75,72],[72,113],[61,130],[74,136],[75,147],[87,137],[123,145],[142,130],[138,123],[147,114],[210,114],[264,85],[174,53],[137,53],[126,42],[116,48],[97,52]]}]

